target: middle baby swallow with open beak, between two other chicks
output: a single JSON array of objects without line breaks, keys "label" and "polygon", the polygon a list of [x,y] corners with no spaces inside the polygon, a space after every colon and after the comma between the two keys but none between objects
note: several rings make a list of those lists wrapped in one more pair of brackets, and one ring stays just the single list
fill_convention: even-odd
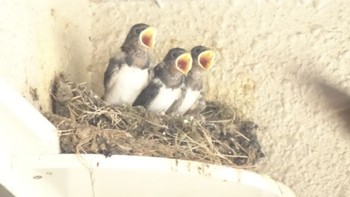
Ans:
[{"label": "middle baby swallow with open beak, between two other chicks", "polygon": [[191,54],[182,48],[169,50],[164,60],[154,68],[154,77],[141,92],[134,106],[164,114],[181,96],[184,76],[192,68]]}]

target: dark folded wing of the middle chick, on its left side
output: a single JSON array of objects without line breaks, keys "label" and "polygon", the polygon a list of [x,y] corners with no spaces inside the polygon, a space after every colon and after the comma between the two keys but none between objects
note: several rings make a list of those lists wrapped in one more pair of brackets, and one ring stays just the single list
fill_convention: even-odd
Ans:
[{"label": "dark folded wing of the middle chick, on its left side", "polygon": [[153,99],[159,93],[159,89],[161,86],[162,84],[159,79],[153,79],[148,84],[148,86],[145,89],[143,89],[142,92],[139,94],[139,96],[133,103],[133,106],[142,105],[147,108],[147,106],[149,106],[149,104],[153,101]]}]

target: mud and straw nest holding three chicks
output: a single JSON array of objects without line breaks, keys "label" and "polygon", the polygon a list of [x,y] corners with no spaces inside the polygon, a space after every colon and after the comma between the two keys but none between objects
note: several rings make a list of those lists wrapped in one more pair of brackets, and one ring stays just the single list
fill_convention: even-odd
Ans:
[{"label": "mud and straw nest holding three chicks", "polygon": [[264,154],[257,125],[237,109],[207,102],[199,116],[167,116],[143,107],[108,106],[88,90],[60,75],[53,86],[53,114],[63,153],[139,155],[252,166]]}]

